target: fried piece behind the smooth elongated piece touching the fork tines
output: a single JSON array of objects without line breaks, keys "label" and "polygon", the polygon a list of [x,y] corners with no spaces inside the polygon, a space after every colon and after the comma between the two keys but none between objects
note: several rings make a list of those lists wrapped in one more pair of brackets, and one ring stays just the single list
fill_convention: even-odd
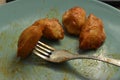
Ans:
[{"label": "fried piece behind the smooth elongated piece touching the fork tines", "polygon": [[45,27],[43,30],[43,36],[48,39],[63,39],[64,38],[64,30],[59,23],[58,19],[40,19],[36,21],[33,25],[42,25]]}]

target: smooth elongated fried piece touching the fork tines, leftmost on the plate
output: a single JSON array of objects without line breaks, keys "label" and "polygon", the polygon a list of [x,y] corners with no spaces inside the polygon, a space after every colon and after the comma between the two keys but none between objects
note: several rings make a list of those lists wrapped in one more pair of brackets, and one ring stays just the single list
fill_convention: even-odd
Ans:
[{"label": "smooth elongated fried piece touching the fork tines, leftmost on the plate", "polygon": [[43,29],[42,26],[30,26],[21,33],[18,40],[18,57],[26,58],[30,55],[37,41],[42,37]]}]

